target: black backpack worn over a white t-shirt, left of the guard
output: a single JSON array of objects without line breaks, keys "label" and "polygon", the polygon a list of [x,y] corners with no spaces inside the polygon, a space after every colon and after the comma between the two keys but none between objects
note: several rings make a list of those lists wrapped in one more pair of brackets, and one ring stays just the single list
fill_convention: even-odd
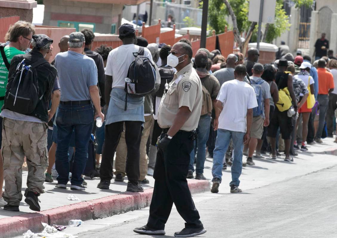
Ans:
[{"label": "black backpack worn over a white t-shirt, left of the guard", "polygon": [[135,59],[127,72],[128,79],[125,81],[124,91],[130,97],[143,97],[155,90],[156,68],[150,59],[144,56],[144,47],[140,46],[133,56]]}]

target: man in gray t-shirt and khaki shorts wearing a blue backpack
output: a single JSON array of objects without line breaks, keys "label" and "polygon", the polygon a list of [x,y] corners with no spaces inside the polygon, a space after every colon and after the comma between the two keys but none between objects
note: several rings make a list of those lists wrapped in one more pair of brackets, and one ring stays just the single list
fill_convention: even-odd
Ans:
[{"label": "man in gray t-shirt and khaki shorts wearing a blue backpack", "polygon": [[[256,63],[252,69],[252,76],[250,77],[251,86],[254,87],[256,93],[262,93],[261,105],[258,109],[262,110],[262,114],[256,115],[256,109],[253,110],[255,115],[253,115],[253,122],[250,129],[250,141],[248,145],[245,145],[243,153],[247,155],[247,164],[254,165],[253,153],[257,146],[257,141],[261,140],[263,134],[263,127],[269,125],[269,99],[271,98],[269,84],[261,78],[264,68],[262,64]],[[261,88],[261,91],[259,90]],[[259,100],[257,101],[259,103]],[[248,150],[249,149],[249,150]]]}]

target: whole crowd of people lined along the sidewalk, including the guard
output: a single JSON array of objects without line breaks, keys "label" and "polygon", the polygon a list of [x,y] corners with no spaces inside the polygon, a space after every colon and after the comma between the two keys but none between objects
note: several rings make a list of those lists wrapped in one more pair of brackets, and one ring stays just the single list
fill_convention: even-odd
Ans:
[{"label": "whole crowd of people lined along the sidewalk, including the guard", "polygon": [[[173,202],[187,224],[203,230],[186,178],[211,179],[204,175],[206,157],[213,158],[211,192],[218,192],[227,166],[230,192],[241,192],[242,166],[254,165],[253,158],[277,159],[284,152],[284,160],[292,162],[298,150],[308,151],[307,145],[336,133],[337,59],[331,50],[328,56],[328,45],[311,64],[308,55],[298,51],[294,57],[282,42],[277,60],[262,65],[256,48],[248,49],[246,59],[205,48],[192,57],[189,40],[149,44],[128,24],[119,28],[123,44],[115,49],[101,45],[92,51],[94,38],[88,29],[63,36],[60,53],[49,63],[53,39],[35,35],[28,22],[9,28],[0,46],[0,206],[5,210],[19,211],[25,159],[25,202],[34,211],[40,210],[43,183],[55,177],[57,188],[66,189],[70,181],[70,189],[85,190],[91,159],[100,189],[127,176],[126,191],[143,192],[146,175],[154,176],[149,222],[135,232],[163,231]],[[132,88],[128,80],[138,57],[150,63],[154,88],[135,97],[129,90],[141,86]],[[88,159],[91,134],[97,145]],[[181,201],[179,194],[188,199]],[[171,207],[163,211],[163,204]]]}]

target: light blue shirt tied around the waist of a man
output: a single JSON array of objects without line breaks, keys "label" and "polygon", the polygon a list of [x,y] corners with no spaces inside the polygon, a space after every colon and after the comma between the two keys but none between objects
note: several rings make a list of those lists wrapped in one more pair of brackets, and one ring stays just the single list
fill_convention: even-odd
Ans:
[{"label": "light blue shirt tied around the waist of a man", "polygon": [[124,88],[113,88],[110,93],[110,103],[105,115],[105,125],[118,121],[144,120],[144,97],[127,97],[127,110],[125,109]]}]

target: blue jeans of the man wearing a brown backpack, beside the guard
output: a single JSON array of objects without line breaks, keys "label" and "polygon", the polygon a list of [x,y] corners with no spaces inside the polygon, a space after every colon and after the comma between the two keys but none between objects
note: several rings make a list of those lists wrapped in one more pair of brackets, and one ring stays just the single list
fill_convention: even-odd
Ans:
[{"label": "blue jeans of the man wearing a brown backpack, beside the guard", "polygon": [[[197,154],[196,154],[196,166],[195,166],[195,172],[197,174],[204,173],[204,164],[206,159],[206,143],[208,140],[208,136],[210,134],[210,126],[211,126],[211,116],[209,115],[203,115],[199,119],[198,123],[198,138],[197,138]],[[195,142],[194,142],[195,143]],[[194,149],[192,150],[190,154],[190,164],[188,167],[188,170],[192,170],[194,172],[194,158],[195,153]]]}]

